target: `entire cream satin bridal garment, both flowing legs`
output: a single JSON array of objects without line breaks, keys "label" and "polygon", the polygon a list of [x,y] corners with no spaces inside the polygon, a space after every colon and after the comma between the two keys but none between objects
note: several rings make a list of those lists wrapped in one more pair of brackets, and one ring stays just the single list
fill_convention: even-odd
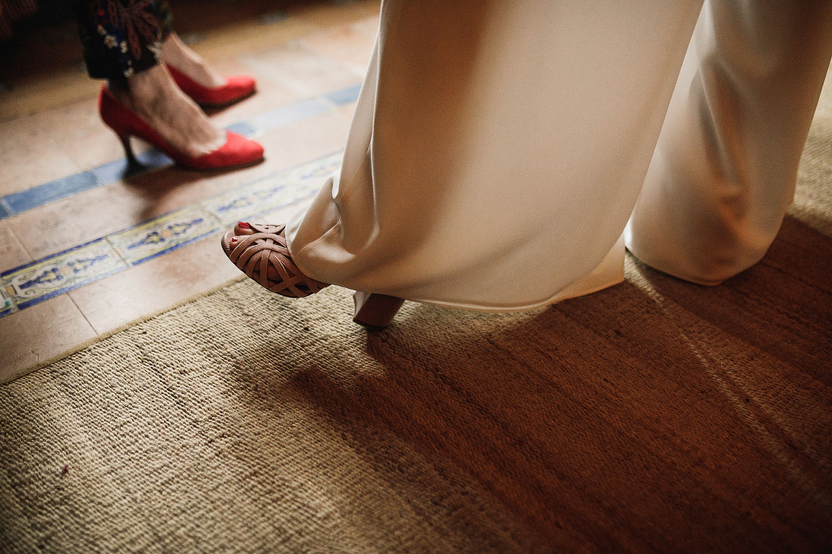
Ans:
[{"label": "entire cream satin bridal garment, both flowing legs", "polygon": [[627,227],[645,262],[720,282],[790,203],[830,3],[385,0],[291,255],[355,290],[518,310],[621,282]]}]

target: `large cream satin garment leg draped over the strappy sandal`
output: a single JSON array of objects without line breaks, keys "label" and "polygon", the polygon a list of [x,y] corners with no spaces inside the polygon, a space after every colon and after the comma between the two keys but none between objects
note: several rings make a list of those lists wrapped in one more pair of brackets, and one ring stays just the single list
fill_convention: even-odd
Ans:
[{"label": "large cream satin garment leg draped over the strappy sandal", "polygon": [[319,282],[483,310],[621,281],[700,8],[385,0],[342,168],[285,228],[292,259]]}]

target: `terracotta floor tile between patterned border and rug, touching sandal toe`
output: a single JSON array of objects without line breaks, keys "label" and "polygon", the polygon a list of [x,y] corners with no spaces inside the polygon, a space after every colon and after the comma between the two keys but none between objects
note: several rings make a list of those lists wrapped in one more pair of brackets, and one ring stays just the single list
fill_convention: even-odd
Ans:
[{"label": "terracotta floor tile between patterned border and rug, touching sandal toe", "polygon": [[97,333],[173,306],[240,275],[219,235],[69,292]]}]

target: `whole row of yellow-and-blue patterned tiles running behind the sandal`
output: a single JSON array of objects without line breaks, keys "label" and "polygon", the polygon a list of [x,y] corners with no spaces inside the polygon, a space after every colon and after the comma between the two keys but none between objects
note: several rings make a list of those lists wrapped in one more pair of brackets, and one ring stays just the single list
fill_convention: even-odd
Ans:
[{"label": "whole row of yellow-and-blue patterned tiles running behind the sandal", "polygon": [[338,169],[335,153],[0,274],[0,317],[83,287],[309,198]]}]

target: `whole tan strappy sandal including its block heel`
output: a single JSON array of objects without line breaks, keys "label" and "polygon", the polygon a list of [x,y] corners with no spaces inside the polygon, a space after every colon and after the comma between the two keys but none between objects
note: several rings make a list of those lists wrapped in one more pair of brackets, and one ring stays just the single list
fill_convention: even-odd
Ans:
[{"label": "whole tan strappy sandal including its block heel", "polygon": [[[221,239],[222,249],[240,271],[251,277],[260,286],[284,297],[303,298],[319,292],[328,283],[307,277],[292,262],[284,237],[284,225],[246,223],[254,234],[235,235],[234,230],[225,233]],[[237,238],[232,244],[232,239]],[[280,277],[269,276],[269,268]],[[370,331],[380,331],[393,321],[404,300],[385,294],[355,292],[355,313],[353,321]]]}]

